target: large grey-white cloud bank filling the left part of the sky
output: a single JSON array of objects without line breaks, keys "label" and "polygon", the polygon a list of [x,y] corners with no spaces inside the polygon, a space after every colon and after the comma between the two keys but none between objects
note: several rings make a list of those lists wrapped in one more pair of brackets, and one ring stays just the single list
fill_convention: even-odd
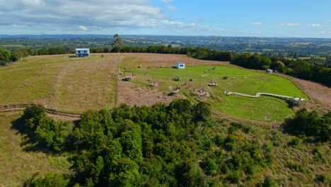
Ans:
[{"label": "large grey-white cloud bank filling the left part of the sky", "polygon": [[[170,4],[163,6],[175,10]],[[134,34],[155,29],[169,34],[179,30],[182,35],[215,35],[224,30],[206,26],[201,21],[171,19],[161,8],[152,6],[150,0],[94,0],[93,3],[89,0],[80,0],[79,3],[66,0],[0,0],[0,16],[0,33],[75,34],[79,30],[88,30],[95,34]]]}]

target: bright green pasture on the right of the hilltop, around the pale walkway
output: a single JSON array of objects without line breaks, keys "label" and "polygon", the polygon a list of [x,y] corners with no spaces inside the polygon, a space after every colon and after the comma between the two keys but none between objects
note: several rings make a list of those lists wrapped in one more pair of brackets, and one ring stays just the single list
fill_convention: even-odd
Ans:
[{"label": "bright green pasture on the right of the hilltop, around the pale walkway", "polygon": [[[289,103],[279,98],[270,96],[261,96],[260,98],[226,96],[223,94],[224,91],[235,91],[250,95],[255,95],[258,92],[284,96],[294,96],[296,94],[298,98],[308,98],[288,79],[236,67],[221,65],[214,67],[215,69],[212,69],[213,66],[187,67],[186,69],[137,68],[127,69],[127,74],[129,74],[129,71],[136,74],[132,81],[141,86],[147,86],[148,79],[151,79],[152,82],[158,81],[158,90],[165,91],[165,93],[170,93],[174,87],[180,86],[182,94],[185,92],[185,95],[190,98],[198,98],[198,96],[194,96],[192,89],[199,89],[201,84],[202,88],[213,96],[212,98],[204,98],[204,101],[211,103],[213,108],[227,115],[250,120],[281,121],[289,115],[293,115],[294,111]],[[175,77],[180,77],[180,81],[173,81]],[[228,77],[228,79],[223,79],[223,77]],[[190,79],[193,81],[190,81]],[[218,86],[207,86],[211,80],[216,81]],[[191,84],[190,88],[184,85],[185,81],[187,84]]]}]

